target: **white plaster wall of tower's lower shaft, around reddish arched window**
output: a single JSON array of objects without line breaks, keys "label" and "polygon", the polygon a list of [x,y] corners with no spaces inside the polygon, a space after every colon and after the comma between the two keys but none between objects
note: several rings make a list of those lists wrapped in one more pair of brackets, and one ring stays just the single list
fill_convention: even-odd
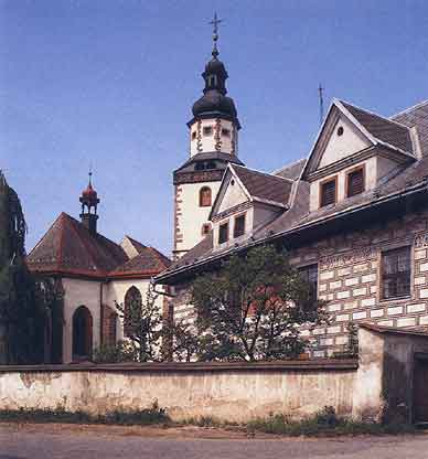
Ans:
[{"label": "white plaster wall of tower's lower shaft, around reddish arched window", "polygon": [[180,213],[178,226],[183,242],[176,243],[176,250],[190,250],[202,241],[202,225],[208,222],[211,206],[200,207],[200,190],[211,188],[212,203],[217,195],[221,182],[185,183],[179,185],[181,191]]}]

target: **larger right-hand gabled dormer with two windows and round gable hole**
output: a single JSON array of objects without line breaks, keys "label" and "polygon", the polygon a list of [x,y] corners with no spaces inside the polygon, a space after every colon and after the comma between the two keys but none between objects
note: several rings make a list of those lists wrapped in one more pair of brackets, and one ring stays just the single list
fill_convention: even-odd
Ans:
[{"label": "larger right-hand gabled dormer with two windows and round gable hole", "polygon": [[416,160],[415,140],[408,127],[334,99],[302,173],[310,210],[375,189]]}]

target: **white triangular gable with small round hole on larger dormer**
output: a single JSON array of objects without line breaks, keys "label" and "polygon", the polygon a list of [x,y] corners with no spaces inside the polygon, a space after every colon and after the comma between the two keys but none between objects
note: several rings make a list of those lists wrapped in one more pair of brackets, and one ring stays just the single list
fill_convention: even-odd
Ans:
[{"label": "white triangular gable with small round hole on larger dormer", "polygon": [[[342,136],[338,136],[339,127],[343,127]],[[333,162],[364,150],[370,146],[371,142],[342,115],[339,117],[339,120],[332,130],[331,137],[322,153],[319,168],[332,164]]]}]

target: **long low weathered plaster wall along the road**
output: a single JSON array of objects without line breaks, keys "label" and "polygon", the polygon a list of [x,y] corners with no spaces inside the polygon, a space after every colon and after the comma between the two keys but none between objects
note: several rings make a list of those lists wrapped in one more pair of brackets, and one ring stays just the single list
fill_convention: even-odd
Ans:
[{"label": "long low weathered plaster wall along the road", "polygon": [[0,367],[0,409],[63,406],[105,414],[158,399],[176,420],[246,421],[270,413],[299,418],[325,405],[350,416],[355,375],[355,361]]}]

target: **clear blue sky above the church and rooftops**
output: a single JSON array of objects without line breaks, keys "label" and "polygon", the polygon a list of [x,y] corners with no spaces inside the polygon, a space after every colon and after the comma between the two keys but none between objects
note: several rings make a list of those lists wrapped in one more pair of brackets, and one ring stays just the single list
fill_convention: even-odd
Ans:
[{"label": "clear blue sky above the church and rooftops", "polygon": [[169,253],[214,9],[248,167],[309,152],[320,82],[327,105],[387,116],[428,98],[425,0],[0,0],[0,168],[28,249],[62,211],[78,217],[92,163],[99,230]]}]

